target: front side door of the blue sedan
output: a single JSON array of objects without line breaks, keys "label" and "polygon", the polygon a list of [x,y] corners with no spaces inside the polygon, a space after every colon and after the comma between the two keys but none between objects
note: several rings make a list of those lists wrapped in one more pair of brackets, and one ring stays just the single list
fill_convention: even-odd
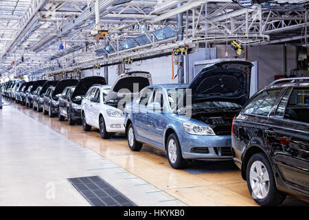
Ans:
[{"label": "front side door of the blue sedan", "polygon": [[[149,109],[152,104],[159,103],[161,110],[154,111]],[[167,120],[165,120],[165,113],[163,109],[165,107],[165,96],[164,91],[161,88],[156,88],[153,98],[148,103],[148,137],[152,142],[163,147],[164,131],[166,126],[168,126]]]}]

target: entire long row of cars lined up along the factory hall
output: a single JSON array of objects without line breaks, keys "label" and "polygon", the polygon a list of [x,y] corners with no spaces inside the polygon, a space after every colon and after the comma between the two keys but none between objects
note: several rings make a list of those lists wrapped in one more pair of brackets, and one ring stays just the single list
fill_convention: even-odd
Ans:
[{"label": "entire long row of cars lined up along the factory hall", "polygon": [[233,159],[253,199],[282,203],[286,193],[309,199],[309,78],[279,80],[249,98],[252,64],[208,65],[190,85],[152,85],[148,72],[82,80],[16,81],[3,96],[102,138],[126,133],[128,146],[167,152],[173,168],[189,160]]}]

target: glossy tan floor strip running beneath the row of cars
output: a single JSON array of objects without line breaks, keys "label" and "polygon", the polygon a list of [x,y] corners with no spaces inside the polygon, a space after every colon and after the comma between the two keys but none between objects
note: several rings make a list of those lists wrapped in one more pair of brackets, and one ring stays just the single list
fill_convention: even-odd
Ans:
[{"label": "glossy tan floor strip running beneath the row of cars", "polygon": [[[170,167],[165,153],[150,146],[144,145],[140,152],[130,151],[123,135],[102,140],[98,130],[84,132],[80,124],[69,126],[66,121],[59,122],[58,118],[49,118],[48,115],[19,104],[12,104],[12,107],[111,160],[188,206],[257,205],[249,195],[247,183],[242,180],[240,170],[233,163],[198,162],[190,164],[185,170],[174,170]],[[282,205],[308,206],[307,203],[292,197],[288,197]]]}]

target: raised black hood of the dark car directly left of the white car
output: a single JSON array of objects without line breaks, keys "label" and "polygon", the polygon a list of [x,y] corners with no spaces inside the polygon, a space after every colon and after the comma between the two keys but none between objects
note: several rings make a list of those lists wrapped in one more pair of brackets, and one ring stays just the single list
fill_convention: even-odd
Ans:
[{"label": "raised black hood of the dark car directly left of the white car", "polygon": [[90,76],[82,78],[76,85],[76,88],[74,89],[71,96],[71,100],[76,98],[76,96],[84,96],[87,93],[88,89],[96,84],[106,85],[105,78],[102,76]]}]

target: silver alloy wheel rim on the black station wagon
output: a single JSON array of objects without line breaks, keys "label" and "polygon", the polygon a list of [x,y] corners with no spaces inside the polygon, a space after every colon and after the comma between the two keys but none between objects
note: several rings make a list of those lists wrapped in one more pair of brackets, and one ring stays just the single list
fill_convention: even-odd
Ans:
[{"label": "silver alloy wheel rim on the black station wagon", "polygon": [[249,178],[253,195],[258,199],[264,199],[269,191],[269,175],[266,166],[260,161],[253,162]]}]

